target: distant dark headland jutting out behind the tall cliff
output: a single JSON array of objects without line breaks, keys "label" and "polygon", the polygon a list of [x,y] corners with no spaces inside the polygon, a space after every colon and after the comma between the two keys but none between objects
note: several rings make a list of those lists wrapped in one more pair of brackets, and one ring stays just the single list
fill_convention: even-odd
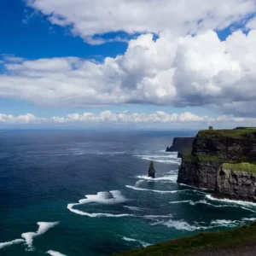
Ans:
[{"label": "distant dark headland jutting out behind the tall cliff", "polygon": [[177,157],[182,158],[183,154],[190,154],[195,137],[175,137],[172,146],[166,148],[166,152],[177,152]]}]

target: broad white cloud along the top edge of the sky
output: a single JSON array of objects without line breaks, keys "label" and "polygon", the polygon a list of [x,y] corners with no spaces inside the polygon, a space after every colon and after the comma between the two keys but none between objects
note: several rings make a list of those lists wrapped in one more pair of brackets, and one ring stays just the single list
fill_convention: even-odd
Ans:
[{"label": "broad white cloud along the top edge of the sky", "polygon": [[256,11],[254,0],[26,0],[26,3],[47,15],[52,24],[71,27],[73,34],[84,40],[106,32],[158,34],[166,29],[183,36],[223,29]]}]

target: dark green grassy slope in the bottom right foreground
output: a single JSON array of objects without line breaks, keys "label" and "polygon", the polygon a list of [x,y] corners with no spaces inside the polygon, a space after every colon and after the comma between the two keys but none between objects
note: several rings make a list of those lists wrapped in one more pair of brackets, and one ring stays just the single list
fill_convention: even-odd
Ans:
[{"label": "dark green grassy slope in the bottom right foreground", "polygon": [[138,248],[116,256],[179,256],[211,252],[215,249],[243,247],[256,241],[256,222],[236,230],[199,233],[177,240],[159,242],[153,246]]}]

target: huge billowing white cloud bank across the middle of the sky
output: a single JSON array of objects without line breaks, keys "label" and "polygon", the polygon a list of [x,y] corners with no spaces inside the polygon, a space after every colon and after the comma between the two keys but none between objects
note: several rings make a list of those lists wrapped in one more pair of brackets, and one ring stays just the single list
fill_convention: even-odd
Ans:
[{"label": "huge billowing white cloud bank across the middle of the sky", "polygon": [[150,33],[131,39],[123,55],[102,62],[5,61],[0,96],[42,106],[211,106],[254,116],[255,42],[256,30],[233,32],[225,41],[212,30],[184,37],[165,31],[156,40]]}]

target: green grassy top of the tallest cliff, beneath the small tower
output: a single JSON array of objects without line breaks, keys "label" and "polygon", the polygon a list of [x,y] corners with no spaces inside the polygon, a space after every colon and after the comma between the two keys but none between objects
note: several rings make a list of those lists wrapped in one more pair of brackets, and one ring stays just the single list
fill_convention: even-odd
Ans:
[{"label": "green grassy top of the tallest cliff, beneath the small tower", "polygon": [[237,130],[201,130],[198,137],[241,137],[242,135],[256,133],[256,128],[245,128]]}]

